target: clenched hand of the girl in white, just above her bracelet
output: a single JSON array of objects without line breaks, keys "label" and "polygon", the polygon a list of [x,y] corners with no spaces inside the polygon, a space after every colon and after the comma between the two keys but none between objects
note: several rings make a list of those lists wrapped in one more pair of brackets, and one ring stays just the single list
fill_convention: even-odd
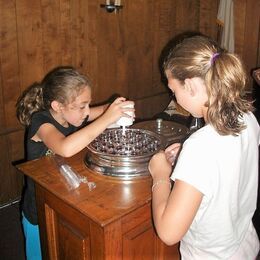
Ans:
[{"label": "clenched hand of the girl in white, just above her bracelet", "polygon": [[148,169],[153,179],[169,179],[172,172],[172,165],[169,163],[164,151],[155,154],[149,162]]}]

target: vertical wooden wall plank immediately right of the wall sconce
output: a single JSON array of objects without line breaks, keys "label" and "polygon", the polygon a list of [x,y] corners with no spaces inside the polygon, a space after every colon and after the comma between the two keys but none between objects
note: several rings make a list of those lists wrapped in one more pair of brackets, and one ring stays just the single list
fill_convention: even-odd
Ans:
[{"label": "vertical wooden wall plank immediately right of the wall sconce", "polygon": [[[153,1],[128,1],[128,89],[130,98],[139,99],[152,93],[153,72]],[[133,15],[134,14],[134,15]]]}]

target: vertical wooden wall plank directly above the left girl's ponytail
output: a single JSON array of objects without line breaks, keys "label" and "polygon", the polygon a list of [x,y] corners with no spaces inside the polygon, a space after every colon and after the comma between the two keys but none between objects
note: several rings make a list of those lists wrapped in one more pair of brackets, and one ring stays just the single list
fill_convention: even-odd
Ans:
[{"label": "vertical wooden wall plank directly above the left girl's ponytail", "polygon": [[[17,0],[17,37],[22,90],[43,75],[43,44],[40,0]],[[33,71],[33,73],[32,73]]]}]

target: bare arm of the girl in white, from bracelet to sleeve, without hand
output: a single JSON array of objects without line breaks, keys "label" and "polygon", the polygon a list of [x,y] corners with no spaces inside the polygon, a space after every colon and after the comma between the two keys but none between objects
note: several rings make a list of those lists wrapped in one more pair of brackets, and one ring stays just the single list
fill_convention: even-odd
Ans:
[{"label": "bare arm of the girl in white, from bracelet to sleeve, without hand", "polygon": [[157,233],[167,245],[178,243],[189,229],[202,200],[202,193],[176,180],[170,193],[165,187],[154,189],[153,217]]}]

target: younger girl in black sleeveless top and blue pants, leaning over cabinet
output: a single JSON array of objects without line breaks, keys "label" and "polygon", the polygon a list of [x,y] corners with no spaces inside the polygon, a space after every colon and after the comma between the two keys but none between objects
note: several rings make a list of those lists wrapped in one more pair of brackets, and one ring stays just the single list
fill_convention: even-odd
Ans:
[{"label": "younger girl in black sleeveless top and blue pants, leaning over cabinet", "polygon": [[[26,89],[17,102],[17,117],[27,127],[27,160],[50,153],[70,157],[85,148],[121,116],[134,115],[132,101],[90,107],[89,80],[72,67],[50,71]],[[132,106],[133,107],[133,106]],[[95,121],[93,121],[95,120]],[[87,122],[93,121],[90,124]],[[27,178],[22,201],[27,259],[41,259],[34,182]]]}]

